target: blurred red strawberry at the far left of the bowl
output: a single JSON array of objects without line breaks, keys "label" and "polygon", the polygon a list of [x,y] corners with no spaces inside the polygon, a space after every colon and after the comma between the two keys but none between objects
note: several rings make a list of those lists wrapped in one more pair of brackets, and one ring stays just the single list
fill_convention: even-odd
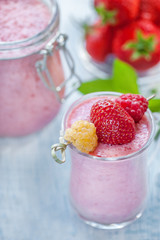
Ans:
[{"label": "blurred red strawberry at the far left of the bowl", "polygon": [[103,62],[110,51],[110,27],[98,20],[92,26],[85,26],[86,50],[90,56]]}]

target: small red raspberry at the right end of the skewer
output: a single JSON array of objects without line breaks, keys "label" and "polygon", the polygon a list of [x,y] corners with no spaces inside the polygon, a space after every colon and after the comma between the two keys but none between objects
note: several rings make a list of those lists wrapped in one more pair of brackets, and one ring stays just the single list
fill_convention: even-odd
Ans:
[{"label": "small red raspberry at the right end of the skewer", "polygon": [[138,94],[123,94],[116,99],[119,103],[134,119],[135,122],[139,122],[148,108],[148,101],[145,97]]}]

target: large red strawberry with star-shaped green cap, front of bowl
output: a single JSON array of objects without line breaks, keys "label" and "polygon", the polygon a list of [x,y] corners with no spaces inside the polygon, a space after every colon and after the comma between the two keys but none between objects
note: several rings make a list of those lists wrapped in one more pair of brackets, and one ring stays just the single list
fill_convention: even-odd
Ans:
[{"label": "large red strawberry with star-shaped green cap, front of bowl", "polygon": [[137,70],[147,70],[160,61],[160,29],[138,20],[117,31],[113,52]]}]

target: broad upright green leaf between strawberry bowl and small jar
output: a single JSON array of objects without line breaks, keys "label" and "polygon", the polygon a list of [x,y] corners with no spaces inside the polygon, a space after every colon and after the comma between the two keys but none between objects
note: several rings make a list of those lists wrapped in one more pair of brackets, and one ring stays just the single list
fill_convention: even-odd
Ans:
[{"label": "broad upright green leaf between strawberry bowl and small jar", "polygon": [[137,73],[129,64],[118,59],[113,64],[113,88],[122,93],[138,94]]}]

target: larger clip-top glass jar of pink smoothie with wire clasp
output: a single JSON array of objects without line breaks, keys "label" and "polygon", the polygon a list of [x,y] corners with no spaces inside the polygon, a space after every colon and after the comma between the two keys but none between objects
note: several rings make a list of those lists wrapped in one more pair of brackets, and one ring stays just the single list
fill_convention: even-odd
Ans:
[{"label": "larger clip-top glass jar of pink smoothie with wire clasp", "polygon": [[56,1],[2,0],[0,23],[0,136],[24,136],[57,115],[66,82],[79,79]]}]

